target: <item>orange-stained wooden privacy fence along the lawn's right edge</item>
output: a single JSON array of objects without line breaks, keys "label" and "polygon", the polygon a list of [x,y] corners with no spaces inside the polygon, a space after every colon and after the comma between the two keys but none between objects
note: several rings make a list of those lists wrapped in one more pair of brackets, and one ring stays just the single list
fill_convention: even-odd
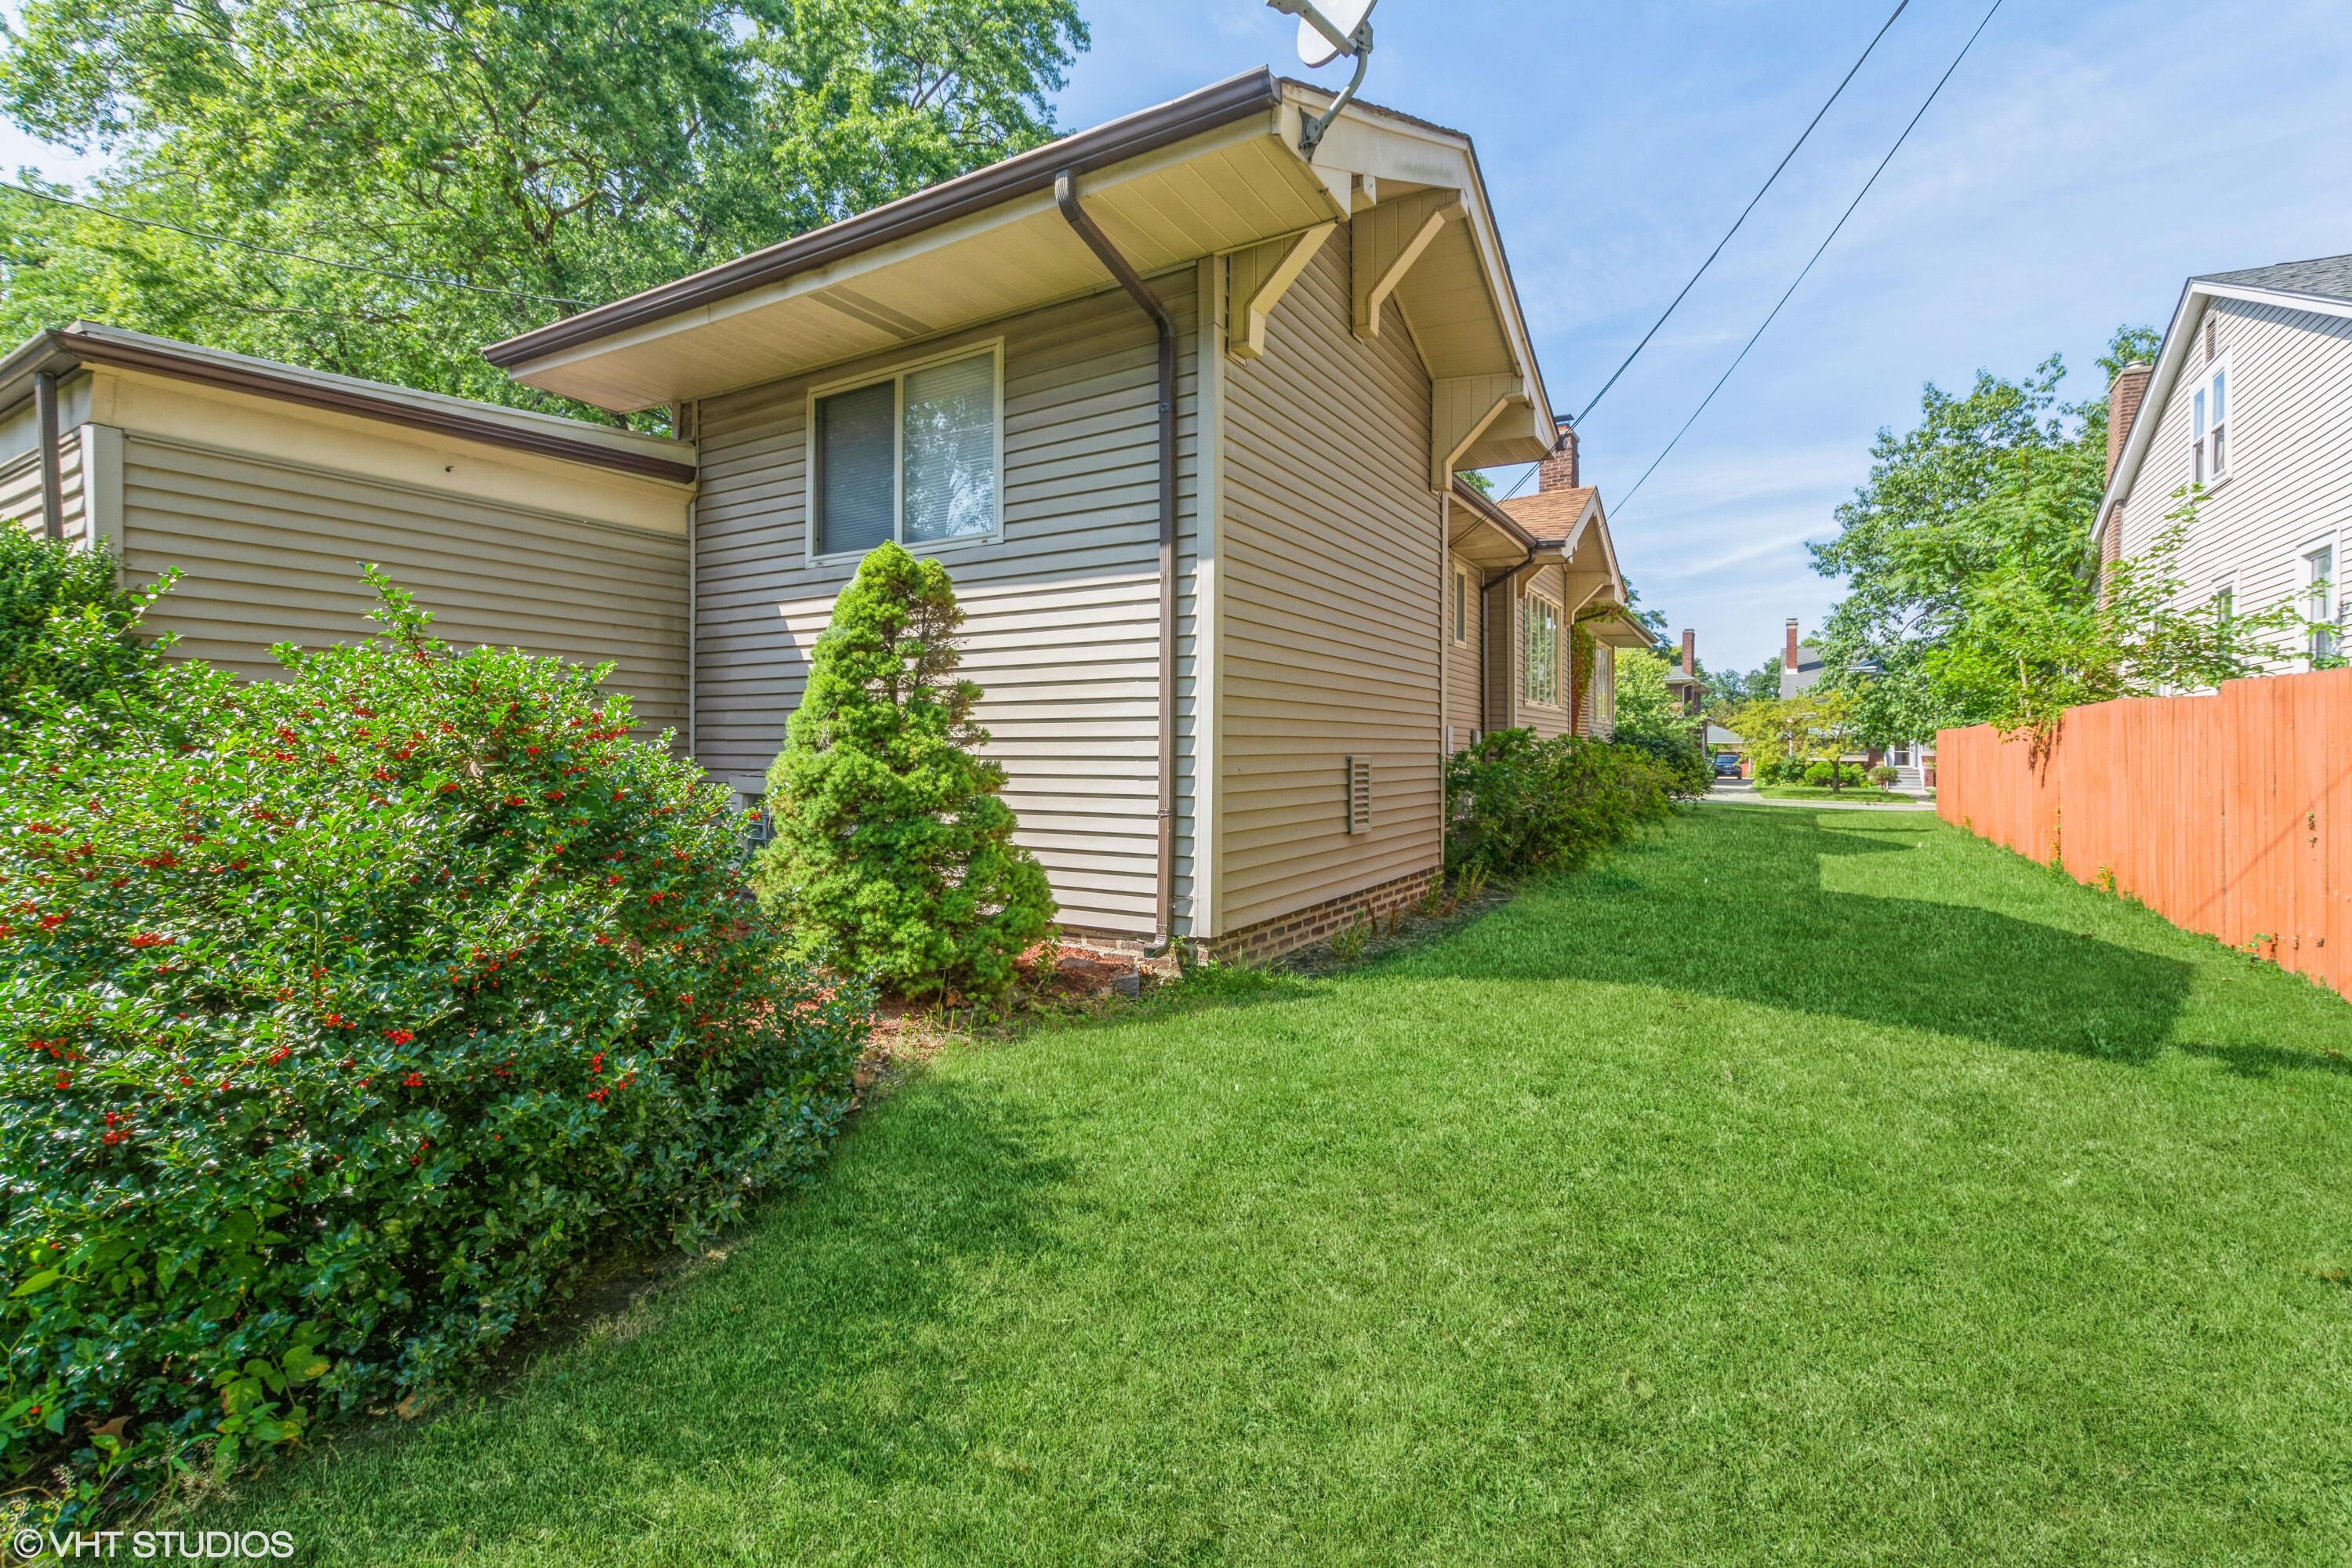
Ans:
[{"label": "orange-stained wooden privacy fence along the lawn's right edge", "polygon": [[2352,670],[1936,738],[1936,813],[2352,994]]}]

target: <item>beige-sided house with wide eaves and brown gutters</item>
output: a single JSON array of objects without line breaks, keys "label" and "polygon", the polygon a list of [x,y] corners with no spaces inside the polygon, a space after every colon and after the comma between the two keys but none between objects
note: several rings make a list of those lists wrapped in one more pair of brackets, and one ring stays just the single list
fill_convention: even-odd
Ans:
[{"label": "beige-sided house with wide eaves and brown gutters", "polygon": [[619,658],[746,799],[901,541],[1073,933],[1279,952],[1418,898],[1446,750],[1604,733],[1646,642],[1595,494],[1456,480],[1559,458],[1470,139],[1355,101],[1301,150],[1329,108],[1251,71],[485,350],[675,442],[89,329],[9,362],[0,484],[186,564],[183,646],[256,672],[362,630],[310,597],[355,559]]}]

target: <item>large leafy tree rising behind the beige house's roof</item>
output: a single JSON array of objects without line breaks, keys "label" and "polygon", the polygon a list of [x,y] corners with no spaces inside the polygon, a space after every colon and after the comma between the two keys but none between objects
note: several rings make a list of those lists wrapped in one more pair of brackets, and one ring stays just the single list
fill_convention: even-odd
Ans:
[{"label": "large leafy tree rising behind the beige house's roof", "polygon": [[358,270],[0,193],[0,336],[560,407],[475,350],[1047,141],[1084,45],[1073,0],[31,0],[0,113],[111,158],[80,195]]}]

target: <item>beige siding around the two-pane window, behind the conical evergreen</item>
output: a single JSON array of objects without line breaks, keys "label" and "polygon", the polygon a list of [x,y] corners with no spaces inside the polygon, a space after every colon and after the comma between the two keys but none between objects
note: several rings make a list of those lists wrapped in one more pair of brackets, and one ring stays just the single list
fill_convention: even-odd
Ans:
[{"label": "beige siding around the two-pane window, behind the conical evergreen", "polygon": [[[1195,275],[1152,277],[1178,322],[1176,924],[1190,919]],[[1148,933],[1157,886],[1160,414],[1150,320],[1117,292],[920,350],[703,400],[696,444],[696,745],[757,795],[856,562],[809,564],[809,386],[1004,341],[1004,536],[931,545],[964,607],[964,675],[1018,839],[1073,926]]]}]

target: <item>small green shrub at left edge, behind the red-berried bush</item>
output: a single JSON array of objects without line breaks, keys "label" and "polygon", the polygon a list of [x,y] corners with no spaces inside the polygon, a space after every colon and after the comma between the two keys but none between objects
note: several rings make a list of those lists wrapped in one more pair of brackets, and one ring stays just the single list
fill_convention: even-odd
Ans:
[{"label": "small green shrub at left edge, behind the red-berried bush", "polygon": [[146,684],[153,658],[139,616],[160,590],[129,592],[115,574],[108,550],[75,550],[0,517],[0,743],[28,722],[35,691],[89,703]]}]

